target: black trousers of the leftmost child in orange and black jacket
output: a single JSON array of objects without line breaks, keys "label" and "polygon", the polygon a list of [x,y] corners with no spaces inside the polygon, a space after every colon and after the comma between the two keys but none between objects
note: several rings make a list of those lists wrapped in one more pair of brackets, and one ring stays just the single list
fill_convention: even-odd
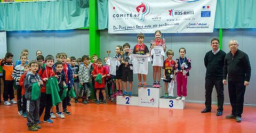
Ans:
[{"label": "black trousers of the leftmost child in orange and black jacket", "polygon": [[4,80],[4,93],[3,93],[4,101],[8,101],[8,98],[10,100],[14,98],[13,83],[14,83],[13,80]]}]

